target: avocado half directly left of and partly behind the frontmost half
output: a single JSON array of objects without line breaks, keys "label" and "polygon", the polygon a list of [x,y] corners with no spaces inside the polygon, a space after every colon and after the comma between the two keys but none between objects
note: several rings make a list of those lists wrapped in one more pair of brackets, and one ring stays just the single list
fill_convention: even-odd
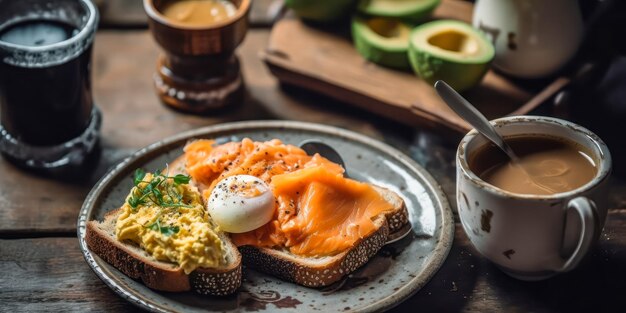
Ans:
[{"label": "avocado half directly left of and partly behind the frontmost half", "polygon": [[373,17],[352,19],[356,50],[367,60],[393,68],[408,69],[411,28],[397,20]]}]

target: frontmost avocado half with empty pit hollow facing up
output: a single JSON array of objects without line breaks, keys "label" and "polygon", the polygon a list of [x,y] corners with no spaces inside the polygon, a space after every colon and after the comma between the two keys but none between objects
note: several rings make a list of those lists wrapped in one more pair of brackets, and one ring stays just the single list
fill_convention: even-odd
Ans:
[{"label": "frontmost avocado half with empty pit hollow facing up", "polygon": [[422,24],[411,32],[409,61],[431,85],[444,80],[457,91],[480,82],[494,57],[491,42],[471,25],[454,20]]}]

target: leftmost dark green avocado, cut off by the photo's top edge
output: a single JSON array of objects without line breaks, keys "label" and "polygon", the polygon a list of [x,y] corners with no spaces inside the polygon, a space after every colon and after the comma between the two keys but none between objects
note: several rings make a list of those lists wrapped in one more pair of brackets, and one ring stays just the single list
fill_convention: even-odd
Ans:
[{"label": "leftmost dark green avocado, cut off by the photo's top edge", "polygon": [[308,21],[330,23],[346,15],[355,0],[285,0],[285,5]]}]

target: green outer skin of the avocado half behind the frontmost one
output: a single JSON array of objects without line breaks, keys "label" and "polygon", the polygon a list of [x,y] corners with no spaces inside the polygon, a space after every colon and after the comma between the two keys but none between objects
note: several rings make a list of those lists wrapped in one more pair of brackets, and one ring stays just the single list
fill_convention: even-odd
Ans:
[{"label": "green outer skin of the avocado half behind the frontmost one", "polygon": [[[363,58],[383,66],[396,69],[409,69],[409,58],[407,50],[391,50],[376,46],[367,42],[364,35],[359,31],[358,23],[362,23],[358,18],[352,20],[352,39],[354,46]],[[361,25],[367,27],[366,25]]]}]

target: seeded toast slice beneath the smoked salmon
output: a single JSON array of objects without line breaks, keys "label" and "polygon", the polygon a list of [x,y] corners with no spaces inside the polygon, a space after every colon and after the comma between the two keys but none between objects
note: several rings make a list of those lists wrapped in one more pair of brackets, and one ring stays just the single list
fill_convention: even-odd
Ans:
[{"label": "seeded toast slice beneath the smoked salmon", "polygon": [[359,239],[352,248],[333,256],[303,257],[286,249],[240,246],[243,262],[307,287],[324,287],[339,281],[367,263],[385,245],[392,229],[397,231],[408,224],[408,211],[402,198],[393,191],[374,187],[394,209],[376,216],[373,220],[376,231]]}]

